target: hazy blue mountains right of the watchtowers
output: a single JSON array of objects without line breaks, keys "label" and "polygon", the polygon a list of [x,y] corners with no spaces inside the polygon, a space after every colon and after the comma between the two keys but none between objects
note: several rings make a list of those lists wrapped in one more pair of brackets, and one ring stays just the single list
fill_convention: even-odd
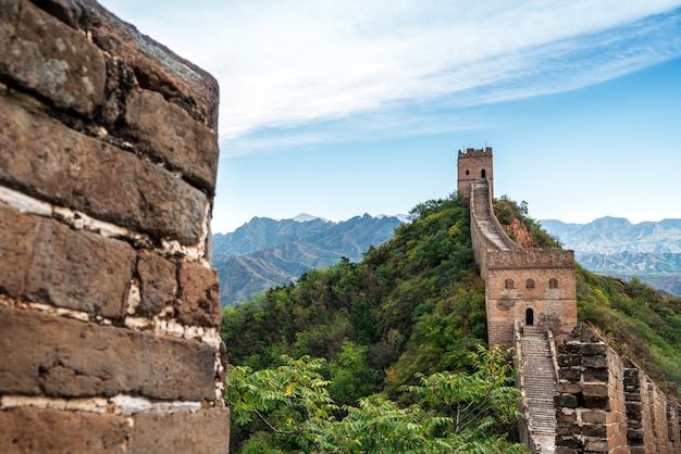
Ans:
[{"label": "hazy blue mountains right of the watchtowers", "polygon": [[681,295],[681,219],[632,224],[621,217],[602,217],[589,224],[556,219],[542,227],[594,273],[639,278],[652,287]]}]

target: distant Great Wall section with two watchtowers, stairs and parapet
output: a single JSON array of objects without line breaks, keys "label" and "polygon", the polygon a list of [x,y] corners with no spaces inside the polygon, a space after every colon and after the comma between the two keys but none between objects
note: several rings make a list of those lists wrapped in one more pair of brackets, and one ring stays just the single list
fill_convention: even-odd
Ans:
[{"label": "distant Great Wall section with two watchtowers, stairs and parapet", "polygon": [[515,348],[521,440],[533,453],[681,453],[681,405],[577,320],[574,255],[525,250],[494,215],[492,149],[458,155],[485,281],[491,345]]}]

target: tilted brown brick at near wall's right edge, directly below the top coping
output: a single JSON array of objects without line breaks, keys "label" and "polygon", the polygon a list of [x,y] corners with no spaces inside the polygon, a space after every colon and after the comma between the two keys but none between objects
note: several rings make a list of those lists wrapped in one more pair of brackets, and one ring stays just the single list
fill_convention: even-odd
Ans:
[{"label": "tilted brown brick at near wall's right edge, directly below the top coping", "polygon": [[128,97],[123,118],[126,135],[138,142],[138,148],[178,168],[188,180],[214,191],[218,135],[212,129],[160,93],[141,89]]}]

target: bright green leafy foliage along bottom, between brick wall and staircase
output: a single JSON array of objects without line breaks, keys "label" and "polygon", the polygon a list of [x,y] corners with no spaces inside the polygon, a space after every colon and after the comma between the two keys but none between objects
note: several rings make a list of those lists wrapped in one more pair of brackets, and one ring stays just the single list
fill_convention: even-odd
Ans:
[{"label": "bright green leafy foliage along bottom, between brick wall and staircase", "polygon": [[[330,383],[319,374],[323,360],[282,360],[280,367],[256,373],[231,366],[225,401],[234,424],[244,426],[257,416],[267,427],[249,438],[243,452],[275,452],[274,446],[278,452],[286,446],[318,453],[523,452],[504,437],[487,437],[495,417],[510,421],[518,416],[511,369],[500,351],[479,349],[472,354],[478,370],[471,376],[420,376],[420,386],[403,388],[417,394],[423,406],[400,407],[374,394],[357,406],[343,406],[339,419],[326,390]],[[454,406],[456,417],[441,416]]]}]

